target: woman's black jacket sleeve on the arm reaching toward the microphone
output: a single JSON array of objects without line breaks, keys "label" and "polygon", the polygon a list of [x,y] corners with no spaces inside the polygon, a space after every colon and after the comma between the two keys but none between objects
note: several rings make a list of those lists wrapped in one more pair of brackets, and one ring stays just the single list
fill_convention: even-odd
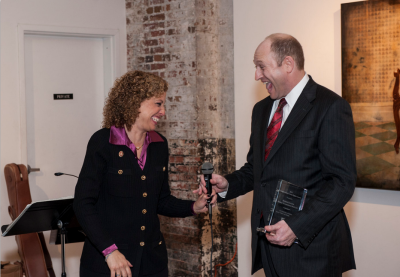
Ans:
[{"label": "woman's black jacket sleeve on the arm reaching toward the microphone", "polygon": [[[164,161],[166,168],[168,168],[169,153],[168,143],[165,139],[165,147],[167,158]],[[161,186],[160,197],[158,199],[157,213],[169,217],[187,217],[192,216],[192,200],[182,200],[171,195],[168,182],[168,170],[164,172],[163,184]]]}]

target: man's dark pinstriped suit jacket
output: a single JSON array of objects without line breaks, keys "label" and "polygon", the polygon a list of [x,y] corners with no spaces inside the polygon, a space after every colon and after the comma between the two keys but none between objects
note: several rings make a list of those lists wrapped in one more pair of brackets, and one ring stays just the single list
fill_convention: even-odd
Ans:
[{"label": "man's dark pinstriped suit jacket", "polygon": [[338,276],[355,268],[349,225],[343,211],[356,183],[355,135],[350,105],[311,77],[264,162],[265,139],[273,100],[253,109],[247,163],[229,174],[224,201],[254,190],[252,273],[260,214],[268,215],[279,179],[308,189],[304,209],[285,221],[302,246],[268,244],[281,277]]}]

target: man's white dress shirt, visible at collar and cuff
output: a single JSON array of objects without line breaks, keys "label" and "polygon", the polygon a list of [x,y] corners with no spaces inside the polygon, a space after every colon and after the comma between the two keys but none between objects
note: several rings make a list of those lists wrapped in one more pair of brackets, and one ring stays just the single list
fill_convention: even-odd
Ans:
[{"label": "man's white dress shirt, visible at collar and cuff", "polygon": [[[294,105],[296,104],[297,99],[299,99],[301,92],[307,85],[308,80],[310,80],[310,77],[308,77],[307,73],[305,73],[303,79],[301,79],[301,81],[299,83],[297,83],[297,85],[284,97],[286,99],[287,104],[283,107],[281,129],[282,129],[283,124],[285,124],[286,119],[289,117],[289,114],[292,111]],[[276,109],[278,108],[280,100],[281,100],[281,98],[276,99],[274,101],[274,104],[272,105],[271,114],[269,115],[268,125],[271,123],[272,117],[274,116]],[[229,184],[228,184],[228,188],[229,188]],[[218,193],[218,195],[222,198],[225,198],[227,193],[228,193],[228,189],[224,192]]]}]

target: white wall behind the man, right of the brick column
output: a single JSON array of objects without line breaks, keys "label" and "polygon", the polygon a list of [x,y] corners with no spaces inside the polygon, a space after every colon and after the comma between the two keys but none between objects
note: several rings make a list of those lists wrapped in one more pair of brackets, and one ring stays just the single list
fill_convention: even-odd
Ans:
[{"label": "white wall behind the man, right of the brick column", "polygon": [[[234,0],[236,167],[245,163],[253,105],[267,91],[254,81],[254,50],[269,34],[282,32],[303,45],[305,69],[341,95],[340,4],[343,0]],[[252,193],[237,199],[239,276],[250,276]],[[400,192],[357,188],[345,207],[357,270],[347,277],[400,276]],[[264,276],[259,271],[255,276]]]}]

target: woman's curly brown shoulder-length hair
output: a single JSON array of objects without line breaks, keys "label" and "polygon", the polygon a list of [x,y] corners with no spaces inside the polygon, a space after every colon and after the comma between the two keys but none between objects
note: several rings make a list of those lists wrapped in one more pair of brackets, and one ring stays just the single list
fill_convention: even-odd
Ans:
[{"label": "woman's curly brown shoulder-length hair", "polygon": [[129,71],[117,79],[108,93],[103,109],[103,128],[124,127],[131,130],[139,116],[140,104],[168,90],[161,77],[143,71]]}]

